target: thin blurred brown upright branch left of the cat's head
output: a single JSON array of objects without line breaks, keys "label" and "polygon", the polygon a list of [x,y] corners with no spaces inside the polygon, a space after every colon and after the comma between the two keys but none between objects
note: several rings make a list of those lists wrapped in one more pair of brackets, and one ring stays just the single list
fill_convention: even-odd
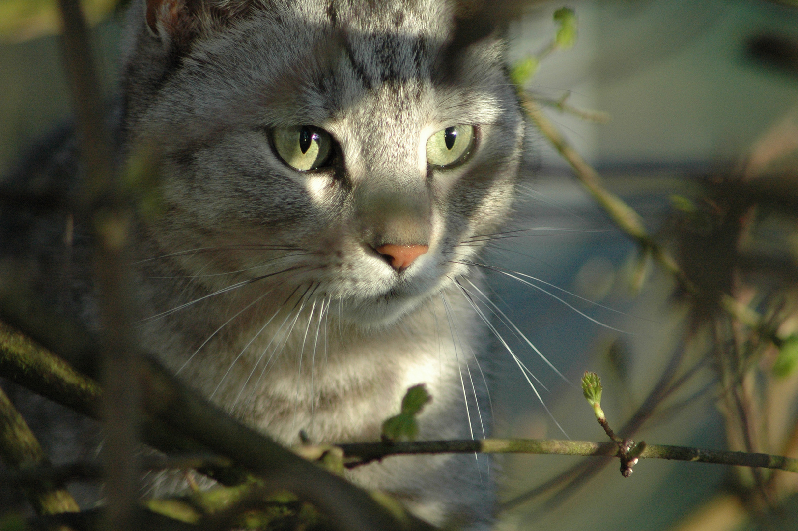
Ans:
[{"label": "thin blurred brown upright branch left of the cat's head", "polygon": [[[93,65],[89,30],[78,0],[58,0],[64,23],[64,63],[77,118],[84,215],[93,222],[94,279],[98,291],[103,369],[105,440],[104,529],[134,529],[132,510],[138,497],[136,445],[139,436],[138,352],[131,327],[126,249],[130,208],[115,168],[113,142],[105,127],[102,94]],[[109,204],[100,207],[98,200]]]}]

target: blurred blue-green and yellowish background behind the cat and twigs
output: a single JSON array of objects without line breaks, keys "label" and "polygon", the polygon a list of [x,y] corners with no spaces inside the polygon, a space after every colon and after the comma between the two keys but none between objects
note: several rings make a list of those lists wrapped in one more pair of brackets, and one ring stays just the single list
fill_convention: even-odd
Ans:
[{"label": "blurred blue-green and yellowish background behind the cat and twigs", "polygon": [[[13,168],[26,145],[69,120],[52,3],[0,0],[0,174]],[[511,64],[547,46],[555,34],[552,14],[563,5],[575,10],[578,40],[571,50],[540,61],[527,89],[552,104],[546,108],[551,121],[663,240],[678,246],[674,211],[692,212],[691,198],[704,193],[709,176],[737,175],[756,160],[782,160],[789,149],[775,157],[768,146],[779,139],[789,145],[791,130],[798,137],[798,3],[538,2],[508,27]],[[119,8],[101,0],[86,2],[86,9],[111,97]],[[492,395],[496,436],[605,440],[578,385],[589,370],[604,380],[602,406],[610,424],[618,430],[631,418],[636,440],[790,451],[798,386],[792,373],[775,383],[768,379],[778,353],[751,347],[747,368],[725,370],[713,343],[717,334],[707,331],[717,319],[709,326],[694,319],[695,308],[677,296],[674,279],[640,260],[637,246],[614,228],[533,128],[528,143],[531,163],[510,228],[521,232],[493,241],[485,263],[539,279],[519,277],[535,288],[501,272],[489,274],[496,303],[574,384],[563,382],[522,338],[500,328],[546,387],[538,387],[546,407],[497,347],[504,361]],[[748,300],[767,313],[768,296]],[[742,428],[729,410],[735,386],[753,404]],[[742,432],[754,433],[755,440],[741,442]],[[798,529],[792,480],[659,460],[640,462],[624,479],[617,462],[602,468],[594,460],[590,470],[582,463],[562,456],[501,459],[500,529]]]}]

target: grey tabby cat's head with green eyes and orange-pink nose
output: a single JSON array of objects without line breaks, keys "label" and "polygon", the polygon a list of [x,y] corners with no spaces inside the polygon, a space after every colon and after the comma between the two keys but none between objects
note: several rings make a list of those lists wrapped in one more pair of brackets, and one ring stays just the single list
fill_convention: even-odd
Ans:
[{"label": "grey tabby cat's head with green eyes and orange-pink nose", "polygon": [[[364,326],[468,271],[523,141],[499,43],[448,55],[444,2],[280,2],[223,26],[150,4],[128,144],[160,154],[164,215],[143,234],[185,252],[176,267],[210,291],[257,279],[246,289],[275,303],[312,291]],[[402,267],[394,248],[411,249]]]}]

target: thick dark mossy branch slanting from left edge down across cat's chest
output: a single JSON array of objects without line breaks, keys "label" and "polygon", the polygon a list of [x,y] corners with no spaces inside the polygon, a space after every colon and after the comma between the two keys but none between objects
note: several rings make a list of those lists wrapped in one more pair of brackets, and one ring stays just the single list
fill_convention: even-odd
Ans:
[{"label": "thick dark mossy branch slanting from left edge down across cat's chest", "polygon": [[[3,290],[4,287],[6,290]],[[14,296],[16,294],[9,290],[10,287],[0,283],[2,319],[19,325],[50,322],[65,335],[60,341],[56,341],[57,338],[52,335],[42,335],[45,341],[49,341],[45,347],[59,353],[63,349],[79,355],[81,359],[87,353],[99,355],[96,339],[79,323],[55,315],[45,307],[33,303],[31,299],[28,299],[25,307],[36,313],[36,319],[31,319],[31,315],[15,314],[18,307],[3,304],[6,300],[18,300],[18,296]],[[33,339],[40,339],[37,329],[22,331]],[[12,364],[15,363],[14,359],[20,363],[24,360],[19,351],[16,351],[16,358],[9,354],[14,352],[0,348],[0,358],[5,358]],[[53,356],[43,349],[38,351],[38,355]],[[403,521],[398,520],[374,501],[369,493],[298,457],[258,431],[244,426],[206,398],[178,382],[151,356],[142,356],[138,374],[145,414],[145,440],[148,440],[147,434],[151,434],[158,442],[174,442],[180,445],[184,448],[183,451],[211,452],[230,458],[235,465],[262,478],[267,485],[289,490],[310,501],[322,513],[326,513],[338,529],[433,529],[431,525],[411,515],[405,515]],[[13,373],[0,375],[14,378]],[[93,405],[86,404],[85,409],[93,410]],[[172,435],[175,433],[177,435]],[[192,448],[185,449],[185,446],[191,445]],[[164,446],[157,447],[159,450],[174,450]],[[221,467],[221,470],[224,468]]]}]

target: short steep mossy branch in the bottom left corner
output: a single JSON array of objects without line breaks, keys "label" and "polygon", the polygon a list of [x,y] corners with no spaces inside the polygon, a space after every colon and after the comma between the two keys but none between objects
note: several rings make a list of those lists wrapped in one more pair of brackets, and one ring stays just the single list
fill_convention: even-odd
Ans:
[{"label": "short steep mossy branch in the bottom left corner", "polygon": [[[13,472],[48,466],[49,460],[25,419],[0,388],[0,457]],[[30,481],[22,489],[38,514],[73,513],[80,508],[62,481]]]}]

